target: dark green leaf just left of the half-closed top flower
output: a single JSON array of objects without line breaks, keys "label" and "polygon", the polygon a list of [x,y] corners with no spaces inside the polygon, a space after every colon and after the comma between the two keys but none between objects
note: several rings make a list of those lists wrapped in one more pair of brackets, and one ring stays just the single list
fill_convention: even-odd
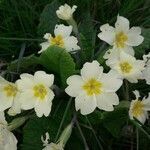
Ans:
[{"label": "dark green leaf just left of the half-closed top flower", "polygon": [[45,33],[53,33],[55,25],[58,23],[58,17],[56,15],[56,10],[59,8],[60,4],[57,0],[46,5],[41,17],[40,23],[38,25],[38,34],[42,35]]}]

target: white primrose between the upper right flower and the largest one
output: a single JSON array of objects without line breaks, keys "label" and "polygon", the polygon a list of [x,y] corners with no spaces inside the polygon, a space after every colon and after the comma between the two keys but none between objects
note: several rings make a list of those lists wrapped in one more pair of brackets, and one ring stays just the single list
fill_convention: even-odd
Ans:
[{"label": "white primrose between the upper right flower and the largest one", "polygon": [[115,70],[122,79],[126,79],[131,83],[137,83],[138,79],[142,79],[145,63],[121,51],[117,59],[108,59],[107,65]]}]

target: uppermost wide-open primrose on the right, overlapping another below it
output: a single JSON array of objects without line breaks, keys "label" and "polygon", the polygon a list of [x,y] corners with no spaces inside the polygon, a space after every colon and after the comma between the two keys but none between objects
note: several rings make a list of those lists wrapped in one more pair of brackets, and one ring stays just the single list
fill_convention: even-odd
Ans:
[{"label": "uppermost wide-open primrose on the right, overlapping another below it", "polygon": [[108,23],[100,27],[101,32],[98,37],[114,48],[124,50],[130,55],[134,55],[133,46],[140,45],[144,38],[141,36],[140,27],[129,28],[129,20],[122,16],[117,17],[115,28]]}]

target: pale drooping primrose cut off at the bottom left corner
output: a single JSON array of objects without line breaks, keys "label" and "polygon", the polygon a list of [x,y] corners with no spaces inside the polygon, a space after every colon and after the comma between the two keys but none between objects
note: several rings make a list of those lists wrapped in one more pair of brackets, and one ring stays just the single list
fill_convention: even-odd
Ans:
[{"label": "pale drooping primrose cut off at the bottom left corner", "polygon": [[0,150],[17,150],[17,139],[7,129],[4,112],[0,112]]}]

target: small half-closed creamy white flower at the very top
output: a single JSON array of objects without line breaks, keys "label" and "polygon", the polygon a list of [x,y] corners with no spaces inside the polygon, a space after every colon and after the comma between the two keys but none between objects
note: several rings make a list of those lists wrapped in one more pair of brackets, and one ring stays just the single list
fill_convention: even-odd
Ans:
[{"label": "small half-closed creamy white flower at the very top", "polygon": [[59,9],[56,11],[56,14],[58,18],[62,20],[70,20],[73,17],[73,13],[76,9],[76,5],[73,5],[73,7],[71,8],[68,4],[64,4],[59,7]]}]

